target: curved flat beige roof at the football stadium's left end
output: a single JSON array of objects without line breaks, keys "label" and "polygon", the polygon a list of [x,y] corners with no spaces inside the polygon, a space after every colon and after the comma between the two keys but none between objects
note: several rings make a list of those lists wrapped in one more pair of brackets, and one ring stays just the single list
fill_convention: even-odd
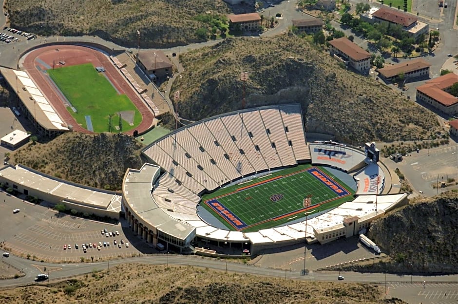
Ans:
[{"label": "curved flat beige roof at the football stadium's left end", "polygon": [[143,164],[140,170],[129,169],[122,187],[126,204],[146,224],[174,237],[186,239],[195,233],[195,227],[172,218],[154,202],[151,190],[160,170],[159,166],[149,163]]}]

